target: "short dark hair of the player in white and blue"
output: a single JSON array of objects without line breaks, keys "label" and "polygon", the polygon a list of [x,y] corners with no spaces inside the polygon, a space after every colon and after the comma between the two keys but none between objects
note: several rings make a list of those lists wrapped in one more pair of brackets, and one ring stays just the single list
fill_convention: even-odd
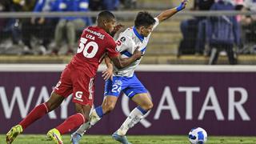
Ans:
[{"label": "short dark hair of the player in white and blue", "polygon": [[151,26],[154,25],[155,19],[152,17],[152,15],[146,11],[141,11],[137,14],[134,22],[134,26],[136,28],[140,26]]}]

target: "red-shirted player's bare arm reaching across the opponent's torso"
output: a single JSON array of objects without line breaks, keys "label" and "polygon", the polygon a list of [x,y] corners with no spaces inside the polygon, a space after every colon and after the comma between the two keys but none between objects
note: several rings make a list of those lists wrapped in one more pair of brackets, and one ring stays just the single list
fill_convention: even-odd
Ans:
[{"label": "red-shirted player's bare arm reaching across the opponent's torso", "polygon": [[134,51],[134,54],[130,58],[121,58],[121,55],[119,54],[118,57],[111,58],[111,60],[114,63],[114,66],[116,66],[118,69],[122,69],[126,66],[129,66],[132,62],[136,61],[141,57],[142,52],[138,50],[137,47]]}]

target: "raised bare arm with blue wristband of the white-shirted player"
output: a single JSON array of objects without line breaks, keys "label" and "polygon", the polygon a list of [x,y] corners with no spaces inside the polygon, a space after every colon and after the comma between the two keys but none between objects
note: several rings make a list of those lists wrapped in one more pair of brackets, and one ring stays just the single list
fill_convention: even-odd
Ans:
[{"label": "raised bare arm with blue wristband of the white-shirted player", "polygon": [[188,0],[182,0],[182,3],[179,6],[170,10],[163,11],[161,14],[157,16],[159,22],[162,22],[176,14],[178,11],[185,9],[187,2]]}]

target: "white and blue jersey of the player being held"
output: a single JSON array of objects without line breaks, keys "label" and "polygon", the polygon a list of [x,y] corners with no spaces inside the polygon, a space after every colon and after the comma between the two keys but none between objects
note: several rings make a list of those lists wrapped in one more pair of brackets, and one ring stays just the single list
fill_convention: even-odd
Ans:
[{"label": "white and blue jersey of the player being held", "polygon": [[[153,26],[153,30],[159,24],[158,18],[154,19],[156,22]],[[150,40],[150,35],[151,33],[147,37],[143,37],[142,35],[138,34],[138,31],[134,26],[132,28],[127,28],[124,32],[119,34],[117,40],[117,50],[120,52],[122,58],[130,58],[138,46],[138,50],[141,50],[143,54],[145,54],[146,46]],[[141,60],[142,58],[131,63],[130,66],[126,66],[123,69],[118,69],[116,66],[114,66],[114,76],[132,77],[134,75],[134,70],[141,62]]]}]

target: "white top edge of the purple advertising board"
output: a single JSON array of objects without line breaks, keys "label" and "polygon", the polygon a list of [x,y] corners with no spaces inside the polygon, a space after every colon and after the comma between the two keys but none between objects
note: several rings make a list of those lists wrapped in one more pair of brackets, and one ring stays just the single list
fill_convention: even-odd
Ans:
[{"label": "white top edge of the purple advertising board", "polygon": [[[61,72],[66,64],[0,64],[0,72]],[[105,70],[100,65],[98,71]],[[146,72],[256,72],[256,66],[140,65]]]}]

